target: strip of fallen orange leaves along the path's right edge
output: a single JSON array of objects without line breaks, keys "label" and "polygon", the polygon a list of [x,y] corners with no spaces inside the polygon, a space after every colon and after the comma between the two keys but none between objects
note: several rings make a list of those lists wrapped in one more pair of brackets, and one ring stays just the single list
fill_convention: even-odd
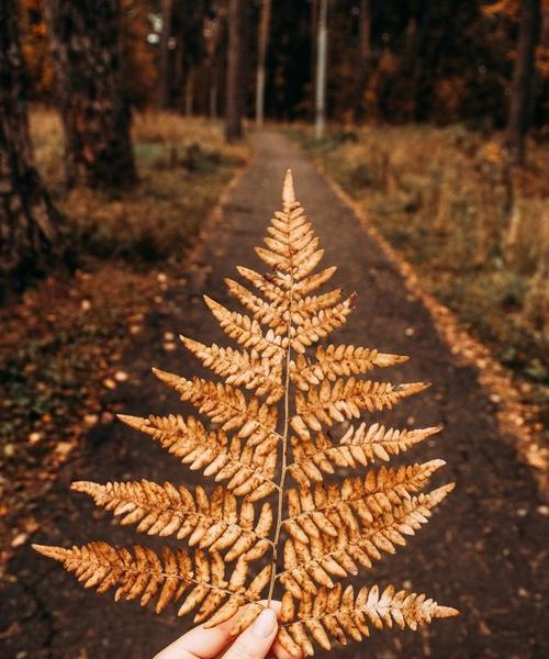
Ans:
[{"label": "strip of fallen orange leaves along the path's right edge", "polygon": [[479,383],[497,406],[496,418],[500,432],[513,437],[517,457],[531,469],[541,499],[549,501],[549,450],[539,446],[531,427],[525,423],[525,417],[530,416],[533,412],[538,415],[538,407],[525,405],[520,401],[520,394],[513,384],[511,376],[492,357],[490,349],[461,325],[450,309],[423,290],[412,265],[402,258],[372,225],[361,204],[343,189],[316,158],[312,160],[334,194],[352,211],[369,237],[377,243],[385,258],[400,273],[408,292],[422,302],[432,317],[437,334],[448,346],[456,361],[460,366],[474,368]]}]

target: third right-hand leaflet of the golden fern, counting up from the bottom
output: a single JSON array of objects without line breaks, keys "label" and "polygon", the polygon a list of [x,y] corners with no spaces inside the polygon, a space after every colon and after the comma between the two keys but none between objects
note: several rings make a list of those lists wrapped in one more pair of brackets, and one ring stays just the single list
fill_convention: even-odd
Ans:
[{"label": "third right-hand leaflet of the golden fern, counting up from the bottom", "polygon": [[366,478],[346,478],[343,484],[288,490],[289,516],[282,522],[288,533],[300,543],[318,538],[322,533],[337,535],[337,528],[359,530],[376,517],[401,505],[414,492],[419,492],[432,474],[445,465],[429,460],[423,465],[397,469],[382,467],[368,471]]}]

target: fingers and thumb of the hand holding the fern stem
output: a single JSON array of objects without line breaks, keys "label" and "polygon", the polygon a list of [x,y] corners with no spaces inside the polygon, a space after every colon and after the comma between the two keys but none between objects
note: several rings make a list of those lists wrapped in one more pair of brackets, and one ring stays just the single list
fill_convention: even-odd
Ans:
[{"label": "fingers and thumb of the hand holding the fern stem", "polygon": [[154,659],[301,659],[290,655],[276,639],[280,602],[261,612],[258,618],[236,638],[229,630],[234,618],[204,629],[203,625],[183,634]]}]

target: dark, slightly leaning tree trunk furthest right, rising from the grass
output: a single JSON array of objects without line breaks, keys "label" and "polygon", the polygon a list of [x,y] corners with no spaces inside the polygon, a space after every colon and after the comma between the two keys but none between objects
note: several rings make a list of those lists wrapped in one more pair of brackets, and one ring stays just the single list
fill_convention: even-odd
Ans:
[{"label": "dark, slightly leaning tree trunk furthest right, rising from the grass", "polygon": [[507,147],[517,165],[522,165],[525,158],[525,137],[529,127],[534,89],[534,58],[540,22],[539,0],[523,0],[507,125]]}]

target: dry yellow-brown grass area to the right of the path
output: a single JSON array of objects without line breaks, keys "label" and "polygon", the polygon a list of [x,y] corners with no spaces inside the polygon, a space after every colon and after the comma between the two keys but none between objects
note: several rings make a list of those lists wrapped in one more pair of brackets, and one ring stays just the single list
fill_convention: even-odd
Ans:
[{"label": "dry yellow-brown grass area to the right of the path", "polygon": [[[419,287],[486,345],[518,391],[515,426],[549,459],[549,149],[507,168],[495,139],[461,126],[380,126],[323,141],[291,133],[410,263]],[[475,350],[478,359],[482,349]],[[505,391],[494,392],[505,402]],[[536,454],[536,455],[535,455]]]}]

